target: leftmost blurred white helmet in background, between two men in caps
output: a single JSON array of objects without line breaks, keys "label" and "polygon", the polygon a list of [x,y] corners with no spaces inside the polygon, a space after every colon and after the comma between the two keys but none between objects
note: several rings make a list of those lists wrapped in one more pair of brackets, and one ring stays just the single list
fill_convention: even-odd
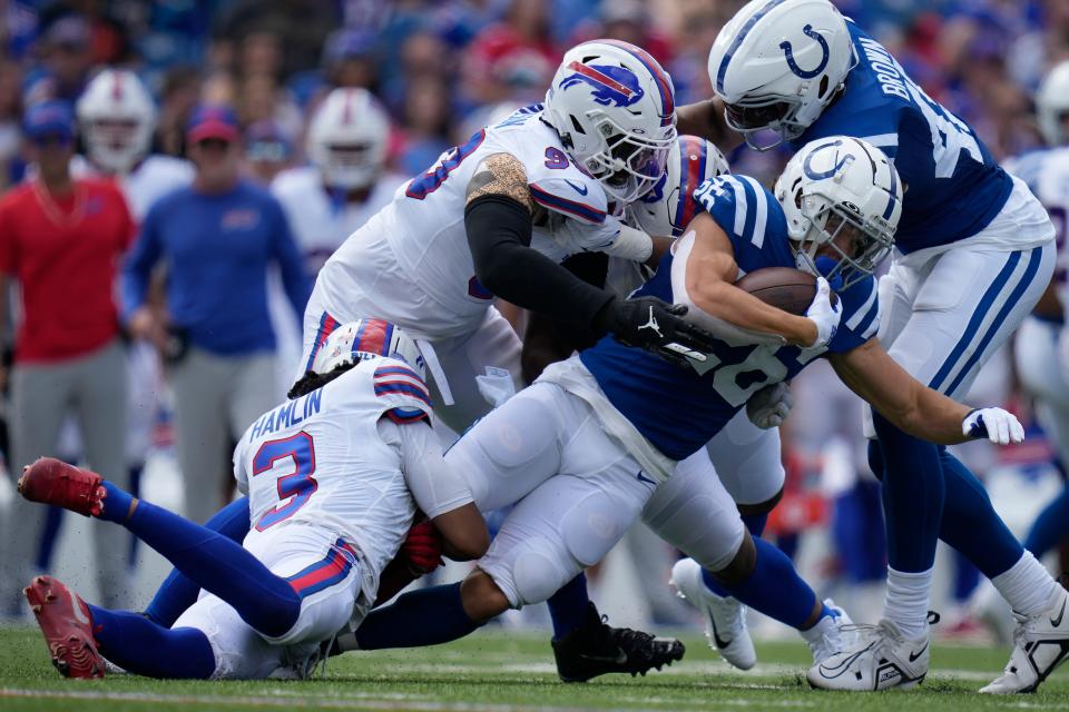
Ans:
[{"label": "leftmost blurred white helmet in background, between two men in caps", "polygon": [[89,160],[100,168],[126,174],[148,154],[156,106],[134,72],[105,69],[86,87],[76,110]]}]

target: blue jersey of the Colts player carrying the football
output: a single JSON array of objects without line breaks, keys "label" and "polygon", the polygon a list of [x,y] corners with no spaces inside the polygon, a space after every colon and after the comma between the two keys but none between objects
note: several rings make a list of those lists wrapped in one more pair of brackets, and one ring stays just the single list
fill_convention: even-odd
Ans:
[{"label": "blue jersey of the Colts player carrying the football", "polygon": [[[735,261],[743,270],[794,267],[783,209],[756,180],[720,176],[704,182],[695,197],[732,240]],[[665,255],[657,274],[636,294],[673,301],[671,260],[670,254]],[[872,277],[838,296],[842,322],[826,349],[720,342],[703,365],[708,368],[698,374],[607,336],[580,358],[609,402],[639,433],[668,457],[683,459],[716,435],[758,389],[791,379],[825,353],[852,350],[876,333],[879,305]]]}]

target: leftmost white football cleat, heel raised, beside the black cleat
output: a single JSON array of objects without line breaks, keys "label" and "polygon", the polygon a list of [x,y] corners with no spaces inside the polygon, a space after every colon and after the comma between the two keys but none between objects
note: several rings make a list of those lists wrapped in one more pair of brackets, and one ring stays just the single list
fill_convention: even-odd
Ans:
[{"label": "leftmost white football cleat, heel raised, beside the black cleat", "polygon": [[746,606],[730,597],[709,591],[702,580],[702,565],[693,558],[680,558],[671,567],[669,583],[676,595],[696,607],[705,619],[705,637],[709,647],[727,663],[749,670],[757,663],[754,641],[746,630]]}]

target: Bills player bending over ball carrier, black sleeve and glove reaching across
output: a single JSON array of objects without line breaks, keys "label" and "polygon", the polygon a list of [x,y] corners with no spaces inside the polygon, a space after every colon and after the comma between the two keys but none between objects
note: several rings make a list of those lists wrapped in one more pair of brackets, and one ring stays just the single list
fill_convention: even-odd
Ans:
[{"label": "Bills player bending over ball carrier, black sleeve and glove reaching across", "polygon": [[[520,342],[496,296],[667,355],[699,346],[681,308],[618,299],[558,264],[582,250],[651,256],[650,237],[612,217],[609,200],[648,192],[675,139],[671,80],[648,53],[612,40],[569,50],[545,106],[443,154],[326,261],[298,374],[337,324],[381,315],[421,344],[438,413],[462,431],[489,409],[475,377],[519,374]],[[643,328],[650,314],[659,334]]]}]

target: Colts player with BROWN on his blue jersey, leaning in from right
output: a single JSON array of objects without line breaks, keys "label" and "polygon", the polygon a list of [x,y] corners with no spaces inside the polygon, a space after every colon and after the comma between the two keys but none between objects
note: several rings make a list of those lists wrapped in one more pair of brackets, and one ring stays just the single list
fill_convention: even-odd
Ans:
[{"label": "Colts player with BROWN on his blue jersey, leaning in from right", "polygon": [[[716,98],[681,108],[680,131],[719,138],[722,148],[742,135],[757,150],[783,142],[797,149],[846,134],[894,161],[904,200],[898,255],[881,280],[879,338],[922,383],[951,397],[967,393],[1053,269],[1053,229],[1027,186],[828,0],[753,0],[722,29],[708,69]],[[887,514],[884,620],[856,649],[828,661],[831,668],[814,668],[811,682],[879,690],[924,676],[932,566],[942,537],[1021,615],[1016,672],[983,691],[1034,689],[1069,654],[1069,617],[1059,615],[1065,593],[945,448],[879,415],[866,431],[879,437],[870,461],[883,479]],[[1029,652],[1033,647],[1039,652]]]}]

